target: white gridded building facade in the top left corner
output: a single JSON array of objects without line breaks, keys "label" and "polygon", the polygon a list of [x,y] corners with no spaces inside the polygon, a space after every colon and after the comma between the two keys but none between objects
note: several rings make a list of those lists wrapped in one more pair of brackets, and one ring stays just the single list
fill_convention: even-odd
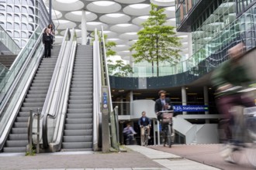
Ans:
[{"label": "white gridded building facade in the top left corner", "polygon": [[0,26],[19,45],[25,46],[36,26],[46,27],[47,8],[40,0],[0,0]]}]

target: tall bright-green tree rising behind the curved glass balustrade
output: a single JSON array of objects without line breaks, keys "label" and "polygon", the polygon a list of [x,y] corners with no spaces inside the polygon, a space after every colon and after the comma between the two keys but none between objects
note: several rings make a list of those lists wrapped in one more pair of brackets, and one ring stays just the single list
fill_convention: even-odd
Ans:
[{"label": "tall bright-green tree rising behind the curved glass balustrade", "polygon": [[133,58],[135,63],[147,61],[157,63],[157,76],[159,76],[159,62],[168,61],[171,64],[178,63],[181,56],[178,54],[182,46],[180,39],[175,36],[175,27],[164,26],[166,15],[164,8],[157,9],[157,5],[151,4],[150,17],[142,24],[144,29],[137,32],[138,41],[133,44],[130,50],[135,50]]}]

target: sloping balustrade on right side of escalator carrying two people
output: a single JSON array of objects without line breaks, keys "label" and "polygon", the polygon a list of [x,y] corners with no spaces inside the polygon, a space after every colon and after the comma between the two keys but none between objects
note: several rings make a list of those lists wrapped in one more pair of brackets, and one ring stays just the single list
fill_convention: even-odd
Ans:
[{"label": "sloping balustrade on right side of escalator carrying two people", "polygon": [[[59,55],[57,57],[57,62],[54,68],[54,73],[53,76],[50,80],[50,86],[49,89],[47,91],[47,97],[44,101],[43,104],[43,109],[42,109],[42,113],[41,116],[43,117],[43,122],[42,122],[42,138],[43,138],[43,148],[47,148],[48,147],[48,137],[47,137],[47,114],[50,113],[50,104],[52,102],[52,100],[56,100],[54,99],[54,89],[57,86],[57,78],[60,74],[60,68],[61,68],[61,63],[62,60],[64,58],[64,53],[66,50],[66,46],[67,46],[67,41],[69,41],[70,39],[70,29],[66,29],[65,34],[64,34],[64,38],[61,42],[61,49],[59,52]],[[46,135],[46,136],[45,136]]]}]

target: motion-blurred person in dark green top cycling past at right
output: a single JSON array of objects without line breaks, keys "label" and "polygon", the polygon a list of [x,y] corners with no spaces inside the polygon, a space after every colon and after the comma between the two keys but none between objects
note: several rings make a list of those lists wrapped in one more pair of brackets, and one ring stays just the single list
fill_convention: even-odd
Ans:
[{"label": "motion-blurred person in dark green top cycling past at right", "polygon": [[[234,125],[234,117],[230,110],[234,108],[234,106],[254,106],[253,99],[243,95],[243,93],[237,93],[237,91],[241,89],[232,88],[251,82],[251,78],[247,75],[246,69],[243,64],[240,63],[240,59],[244,56],[244,51],[244,42],[240,42],[230,48],[228,50],[230,59],[214,70],[212,75],[212,83],[217,93],[216,105],[220,114],[223,114],[219,128],[224,131],[225,135],[220,136],[220,141],[229,143],[230,145],[235,145],[237,142],[232,138],[232,131],[230,129],[230,125]],[[228,160],[230,154],[227,153],[227,151],[224,151],[221,155],[225,160],[227,159],[227,162],[232,162]]]}]

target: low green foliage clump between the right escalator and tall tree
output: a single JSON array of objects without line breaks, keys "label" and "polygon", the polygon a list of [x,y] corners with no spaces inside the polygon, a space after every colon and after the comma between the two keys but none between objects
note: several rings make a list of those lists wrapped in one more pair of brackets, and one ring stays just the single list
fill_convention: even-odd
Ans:
[{"label": "low green foliage clump between the right escalator and tall tree", "polygon": [[116,60],[116,63],[112,63],[108,60],[109,74],[113,76],[129,76],[133,73],[133,68],[129,64],[123,63],[123,60]]}]

